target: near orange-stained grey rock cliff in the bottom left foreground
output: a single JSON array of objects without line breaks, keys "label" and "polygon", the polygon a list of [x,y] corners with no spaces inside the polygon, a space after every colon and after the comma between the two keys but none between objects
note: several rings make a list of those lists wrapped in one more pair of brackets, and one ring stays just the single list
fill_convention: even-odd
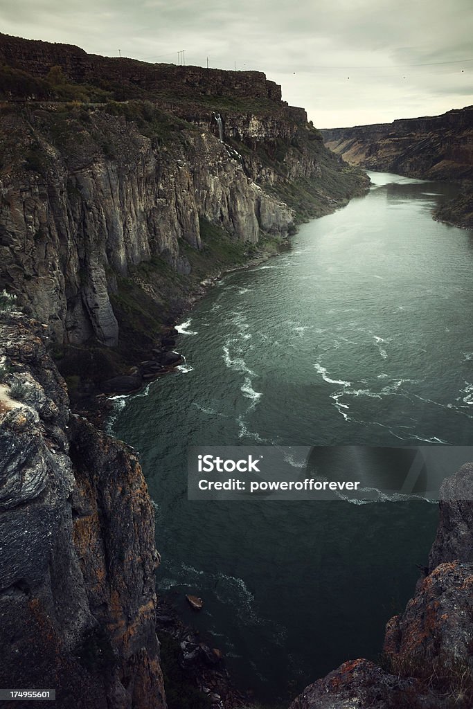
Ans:
[{"label": "near orange-stained grey rock cliff in the bottom left foreground", "polygon": [[165,709],[145,480],[69,413],[44,329],[0,313],[0,686],[55,688],[58,708]]}]

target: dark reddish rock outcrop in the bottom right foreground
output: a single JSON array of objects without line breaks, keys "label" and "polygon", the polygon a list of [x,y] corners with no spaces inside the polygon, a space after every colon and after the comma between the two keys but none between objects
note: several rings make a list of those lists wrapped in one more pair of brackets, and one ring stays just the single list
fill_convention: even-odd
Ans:
[{"label": "dark reddish rock outcrop in the bottom right foreground", "polygon": [[347,661],[291,709],[470,709],[473,706],[473,465],[441,490],[425,576],[386,625],[382,662]]}]

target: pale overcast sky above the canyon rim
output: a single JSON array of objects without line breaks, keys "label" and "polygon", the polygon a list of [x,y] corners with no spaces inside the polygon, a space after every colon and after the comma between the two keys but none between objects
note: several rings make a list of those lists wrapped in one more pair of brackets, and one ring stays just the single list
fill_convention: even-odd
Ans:
[{"label": "pale overcast sky above the canyon rim", "polygon": [[[473,104],[471,0],[2,0],[1,31],[87,52],[257,69],[318,128]],[[180,55],[182,57],[183,55]]]}]

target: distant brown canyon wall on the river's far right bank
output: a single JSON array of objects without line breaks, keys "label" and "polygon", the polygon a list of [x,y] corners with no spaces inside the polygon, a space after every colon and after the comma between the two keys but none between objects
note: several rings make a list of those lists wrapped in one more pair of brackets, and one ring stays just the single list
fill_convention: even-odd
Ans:
[{"label": "distant brown canyon wall on the river's far right bank", "polygon": [[473,106],[354,128],[321,130],[325,145],[350,165],[407,177],[460,182],[460,195],[438,218],[473,228]]}]

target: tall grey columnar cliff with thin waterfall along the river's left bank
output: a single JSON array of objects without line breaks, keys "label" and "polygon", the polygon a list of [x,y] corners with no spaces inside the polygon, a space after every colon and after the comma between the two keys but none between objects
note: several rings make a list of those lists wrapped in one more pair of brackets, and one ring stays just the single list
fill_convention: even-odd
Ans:
[{"label": "tall grey columnar cliff with thin waterfall along the river's left bank", "polygon": [[366,187],[260,72],[7,35],[0,60],[0,287],[57,345],[152,344],[219,248],[243,259]]}]

